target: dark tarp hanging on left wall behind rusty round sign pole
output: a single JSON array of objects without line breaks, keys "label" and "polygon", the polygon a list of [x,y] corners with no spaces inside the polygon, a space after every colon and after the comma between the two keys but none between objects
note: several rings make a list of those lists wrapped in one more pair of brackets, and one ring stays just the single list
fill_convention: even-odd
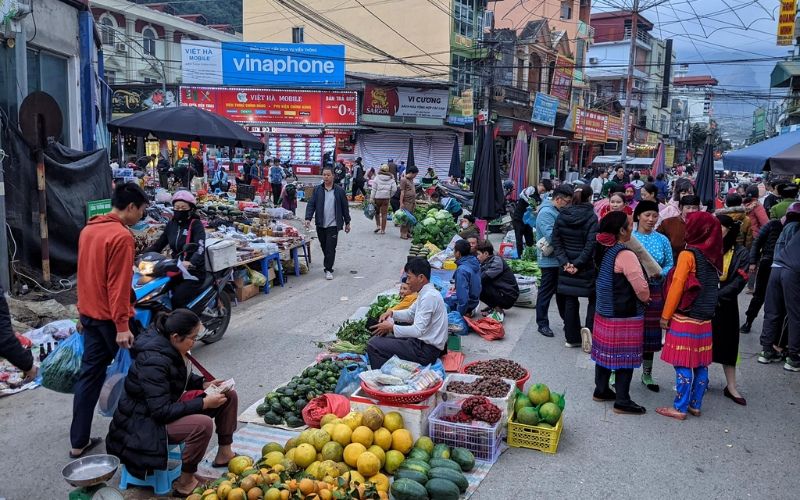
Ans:
[{"label": "dark tarp hanging on left wall behind rusty round sign pole", "polygon": [[[5,127],[3,162],[6,183],[6,218],[14,243],[15,259],[34,269],[42,268],[39,235],[39,194],[36,161],[22,136]],[[98,149],[75,151],[58,143],[45,149],[47,227],[50,269],[56,276],[75,274],[78,265],[78,235],[86,225],[86,205],[111,198],[111,168],[108,153]]]}]

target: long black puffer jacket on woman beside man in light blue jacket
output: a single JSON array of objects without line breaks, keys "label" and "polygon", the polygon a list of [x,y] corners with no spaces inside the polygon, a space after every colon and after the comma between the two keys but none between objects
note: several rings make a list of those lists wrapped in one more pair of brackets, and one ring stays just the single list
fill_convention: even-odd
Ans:
[{"label": "long black puffer jacket on woman beside man in light blue jacket", "polygon": [[[594,293],[596,240],[597,216],[591,204],[572,205],[558,214],[553,228],[553,255],[562,267],[558,272],[558,293],[577,297],[589,297]],[[567,263],[578,268],[578,272],[564,271]]]}]

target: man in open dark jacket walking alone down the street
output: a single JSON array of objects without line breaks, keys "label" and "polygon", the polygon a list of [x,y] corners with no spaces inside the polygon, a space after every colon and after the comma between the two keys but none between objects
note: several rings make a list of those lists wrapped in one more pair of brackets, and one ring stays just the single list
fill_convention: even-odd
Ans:
[{"label": "man in open dark jacket walking alone down the street", "polygon": [[317,237],[325,256],[325,279],[333,279],[333,263],[336,260],[336,243],[339,231],[350,232],[350,207],[344,188],[333,183],[333,169],[322,169],[322,184],[314,188],[314,194],[306,206],[306,229],[311,219],[317,226]]}]

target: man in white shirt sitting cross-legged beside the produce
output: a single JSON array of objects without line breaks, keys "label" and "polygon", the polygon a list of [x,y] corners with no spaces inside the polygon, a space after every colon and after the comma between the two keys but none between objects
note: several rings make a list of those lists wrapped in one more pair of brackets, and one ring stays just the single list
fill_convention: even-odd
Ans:
[{"label": "man in white shirt sitting cross-legged beside the produce", "polygon": [[430,283],[431,265],[426,259],[411,259],[405,272],[409,290],[418,294],[417,301],[409,309],[387,311],[372,327],[374,336],[367,342],[367,355],[375,370],[394,355],[422,365],[434,363],[447,345],[447,307]]}]

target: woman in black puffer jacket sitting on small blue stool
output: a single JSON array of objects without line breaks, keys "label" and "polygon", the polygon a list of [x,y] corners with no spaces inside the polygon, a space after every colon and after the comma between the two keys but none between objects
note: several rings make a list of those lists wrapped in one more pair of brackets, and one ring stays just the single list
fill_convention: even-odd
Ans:
[{"label": "woman in black puffer jacket sitting on small blue stool", "polygon": [[173,484],[183,496],[199,484],[194,473],[206,453],[214,422],[219,442],[214,466],[223,467],[234,457],[236,392],[181,398],[187,391],[206,390],[222,382],[204,382],[191,371],[189,350],[200,328],[197,315],[179,309],[159,317],[156,331],[137,337],[133,365],[106,438],[106,450],[139,478],[167,468],[168,443],[184,443],[181,476]]}]

